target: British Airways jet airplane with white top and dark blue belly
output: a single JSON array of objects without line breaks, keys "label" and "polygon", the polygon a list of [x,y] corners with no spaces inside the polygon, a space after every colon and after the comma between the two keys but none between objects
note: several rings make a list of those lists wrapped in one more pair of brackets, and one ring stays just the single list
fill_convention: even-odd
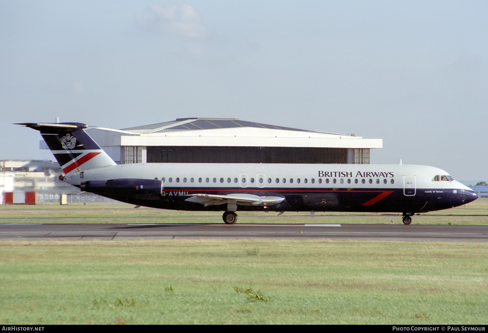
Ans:
[{"label": "British Airways jet airplane with white top and dark blue belly", "polygon": [[139,206],[189,211],[395,212],[447,209],[478,198],[433,166],[369,164],[135,163],[117,165],[81,123],[20,123],[41,132],[60,180]]}]

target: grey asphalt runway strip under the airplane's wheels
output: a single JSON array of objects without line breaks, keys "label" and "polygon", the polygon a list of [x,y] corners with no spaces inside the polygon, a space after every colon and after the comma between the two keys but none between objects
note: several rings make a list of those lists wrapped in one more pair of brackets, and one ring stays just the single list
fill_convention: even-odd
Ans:
[{"label": "grey asphalt runway strip under the airplane's wheels", "polygon": [[488,225],[424,224],[0,224],[0,240],[266,238],[488,241]]}]

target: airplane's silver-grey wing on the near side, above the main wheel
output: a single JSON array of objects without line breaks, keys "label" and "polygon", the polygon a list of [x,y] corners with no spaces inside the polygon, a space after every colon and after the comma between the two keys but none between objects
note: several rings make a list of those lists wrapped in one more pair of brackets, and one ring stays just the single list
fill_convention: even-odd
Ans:
[{"label": "airplane's silver-grey wing on the near side, above the main wheel", "polygon": [[281,203],[285,200],[284,197],[260,197],[254,194],[244,194],[244,193],[235,193],[235,194],[227,194],[227,195],[217,195],[217,194],[205,194],[205,193],[197,193],[197,194],[188,194],[185,201],[189,201],[192,203],[201,203],[205,207],[215,204],[224,204],[224,203],[234,203],[234,204],[242,204],[242,205],[273,205],[277,203]]}]

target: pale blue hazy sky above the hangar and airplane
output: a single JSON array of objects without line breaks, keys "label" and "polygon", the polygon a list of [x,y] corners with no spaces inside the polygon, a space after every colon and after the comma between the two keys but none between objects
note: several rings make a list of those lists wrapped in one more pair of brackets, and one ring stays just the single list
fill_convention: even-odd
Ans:
[{"label": "pale blue hazy sky above the hangar and airplane", "polygon": [[0,159],[37,131],[235,117],[488,181],[487,1],[0,0]]}]

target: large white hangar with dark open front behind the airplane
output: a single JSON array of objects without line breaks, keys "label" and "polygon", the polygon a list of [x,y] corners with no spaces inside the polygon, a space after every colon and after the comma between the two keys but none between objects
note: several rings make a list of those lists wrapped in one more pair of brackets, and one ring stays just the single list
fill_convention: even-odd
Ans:
[{"label": "large white hangar with dark open front behind the airplane", "polygon": [[[236,118],[179,118],[87,133],[117,164],[342,163],[369,164],[382,139],[293,129]],[[41,148],[47,148],[41,141]]]}]

